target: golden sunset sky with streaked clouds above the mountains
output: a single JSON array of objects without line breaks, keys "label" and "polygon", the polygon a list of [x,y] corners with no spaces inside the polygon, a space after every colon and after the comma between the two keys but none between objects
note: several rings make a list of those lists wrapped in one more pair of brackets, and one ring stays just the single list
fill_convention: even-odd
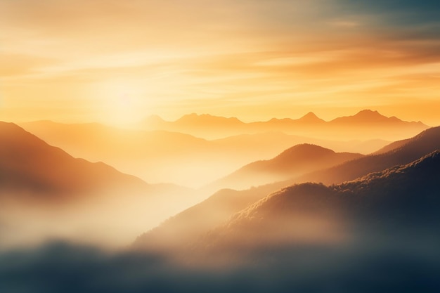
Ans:
[{"label": "golden sunset sky with streaked clouds above the mountains", "polygon": [[0,0],[0,120],[440,125],[440,1]]}]

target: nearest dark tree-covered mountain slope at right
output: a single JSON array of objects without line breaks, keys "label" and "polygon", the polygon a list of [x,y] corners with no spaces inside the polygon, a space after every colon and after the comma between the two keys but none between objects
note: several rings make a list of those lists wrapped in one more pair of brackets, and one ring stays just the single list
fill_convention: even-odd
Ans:
[{"label": "nearest dark tree-covered mountain slope at right", "polygon": [[201,242],[210,249],[280,249],[352,241],[365,230],[376,235],[392,231],[396,238],[419,229],[435,233],[440,226],[439,178],[436,150],[356,181],[293,185],[243,209]]}]

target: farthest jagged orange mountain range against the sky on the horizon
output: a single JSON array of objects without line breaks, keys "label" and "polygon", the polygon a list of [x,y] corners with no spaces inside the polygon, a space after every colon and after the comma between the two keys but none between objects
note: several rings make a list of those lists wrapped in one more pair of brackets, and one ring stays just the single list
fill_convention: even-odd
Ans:
[{"label": "farthest jagged orange mountain range against the sky on the horizon", "polygon": [[362,110],[356,115],[338,117],[329,122],[312,112],[299,119],[273,118],[266,122],[245,123],[232,117],[190,114],[167,122],[158,116],[145,119],[143,128],[179,131],[203,138],[219,138],[236,134],[254,134],[264,131],[282,131],[286,134],[313,136],[326,139],[373,139],[396,141],[427,129],[422,122],[405,122],[397,117],[385,117],[377,111]]}]

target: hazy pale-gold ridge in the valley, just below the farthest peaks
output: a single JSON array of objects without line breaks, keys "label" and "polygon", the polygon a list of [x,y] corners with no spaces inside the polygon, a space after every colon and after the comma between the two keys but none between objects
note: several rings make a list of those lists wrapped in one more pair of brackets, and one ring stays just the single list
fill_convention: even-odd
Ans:
[{"label": "hazy pale-gold ridge in the valley, just below the farthest peaks", "polygon": [[[200,187],[257,159],[267,159],[299,143],[338,152],[373,152],[383,140],[335,141],[282,132],[240,134],[207,141],[170,131],[135,131],[103,124],[21,123],[27,131],[74,157],[105,162],[148,182]],[[207,164],[209,162],[209,164]]]}]

